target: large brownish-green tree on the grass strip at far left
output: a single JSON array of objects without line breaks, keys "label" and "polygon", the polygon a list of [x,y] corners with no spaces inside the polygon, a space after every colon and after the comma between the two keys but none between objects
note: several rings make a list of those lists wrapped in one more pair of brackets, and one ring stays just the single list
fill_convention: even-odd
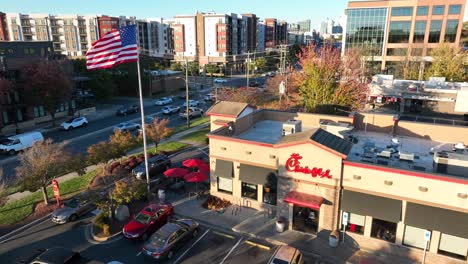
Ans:
[{"label": "large brownish-green tree on the grass strip at far left", "polygon": [[44,203],[48,204],[47,186],[51,180],[76,169],[74,158],[65,150],[65,144],[54,144],[51,139],[35,143],[19,155],[16,168],[19,182],[25,190],[42,190]]}]

